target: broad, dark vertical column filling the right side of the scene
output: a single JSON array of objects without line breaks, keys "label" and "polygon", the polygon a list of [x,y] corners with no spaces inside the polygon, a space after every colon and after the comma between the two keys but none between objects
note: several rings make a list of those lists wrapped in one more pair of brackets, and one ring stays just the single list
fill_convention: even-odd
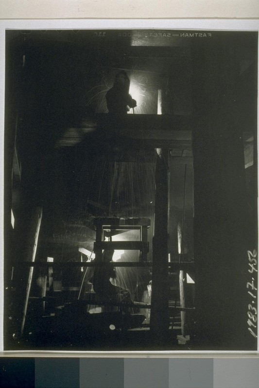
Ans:
[{"label": "broad, dark vertical column filling the right side of the scene", "polygon": [[226,37],[202,59],[193,50],[195,322],[197,344],[206,349],[244,350],[254,340],[247,324],[247,250],[255,245],[249,244],[244,113],[237,104],[239,55],[239,45]]}]

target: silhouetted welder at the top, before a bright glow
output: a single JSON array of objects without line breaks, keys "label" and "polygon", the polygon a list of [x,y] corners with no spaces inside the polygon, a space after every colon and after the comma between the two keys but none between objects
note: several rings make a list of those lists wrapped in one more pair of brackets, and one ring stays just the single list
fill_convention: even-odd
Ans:
[{"label": "silhouetted welder at the top, before a bright glow", "polygon": [[123,70],[115,77],[114,85],[106,93],[106,103],[109,113],[114,116],[127,114],[130,108],[135,108],[137,102],[129,94],[130,80]]}]

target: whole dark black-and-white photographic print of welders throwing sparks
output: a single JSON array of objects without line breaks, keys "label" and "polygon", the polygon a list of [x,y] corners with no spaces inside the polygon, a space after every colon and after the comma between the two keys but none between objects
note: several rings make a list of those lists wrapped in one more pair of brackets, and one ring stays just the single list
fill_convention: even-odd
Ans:
[{"label": "whole dark black-and-white photographic print of welders throwing sparks", "polygon": [[258,32],[5,45],[4,350],[256,351]]}]

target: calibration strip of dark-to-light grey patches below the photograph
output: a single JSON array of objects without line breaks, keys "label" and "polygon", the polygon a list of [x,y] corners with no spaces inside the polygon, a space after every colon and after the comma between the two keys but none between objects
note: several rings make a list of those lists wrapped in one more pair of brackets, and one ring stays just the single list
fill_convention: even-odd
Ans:
[{"label": "calibration strip of dark-to-light grey patches below the photograph", "polygon": [[0,357],[0,387],[259,388],[259,358]]}]

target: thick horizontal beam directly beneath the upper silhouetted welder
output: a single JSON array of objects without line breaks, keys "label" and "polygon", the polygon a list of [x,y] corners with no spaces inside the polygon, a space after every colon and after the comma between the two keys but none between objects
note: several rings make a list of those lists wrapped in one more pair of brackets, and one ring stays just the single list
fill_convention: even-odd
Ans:
[{"label": "thick horizontal beam directly beneath the upper silhouetted welder", "polygon": [[[83,107],[78,110],[83,110]],[[84,116],[84,111],[81,114]],[[143,146],[190,148],[191,130],[190,116],[126,114],[118,119],[108,113],[98,113],[86,116],[81,123],[65,129],[57,146],[74,146],[89,136],[108,139],[114,135],[142,141]]]}]

